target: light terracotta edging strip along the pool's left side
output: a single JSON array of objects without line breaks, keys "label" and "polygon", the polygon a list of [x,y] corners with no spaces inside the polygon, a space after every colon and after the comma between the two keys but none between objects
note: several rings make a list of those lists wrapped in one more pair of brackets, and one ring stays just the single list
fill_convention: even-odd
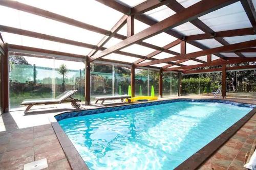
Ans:
[{"label": "light terracotta edging strip along the pool's left side", "polygon": [[65,153],[66,158],[68,159],[70,167],[73,170],[89,170],[87,164],[83,161],[82,157],[75,149],[74,145],[65,134],[65,132],[62,130],[62,128],[59,126],[59,124],[57,122],[51,122],[51,125],[57,136],[57,139],[59,140],[61,148]]}]

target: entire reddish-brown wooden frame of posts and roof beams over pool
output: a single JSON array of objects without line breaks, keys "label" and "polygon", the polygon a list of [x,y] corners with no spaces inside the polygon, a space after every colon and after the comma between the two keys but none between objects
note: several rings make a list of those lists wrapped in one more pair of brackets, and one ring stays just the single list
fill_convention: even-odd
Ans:
[{"label": "entire reddish-brown wooden frame of posts and roof beams over pool", "polygon": [[[132,87],[132,95],[135,95],[135,68],[139,67],[148,67],[148,68],[157,68],[160,71],[159,78],[159,94],[162,96],[162,73],[164,71],[176,71],[179,74],[179,95],[181,92],[181,74],[193,74],[193,73],[202,73],[202,72],[215,72],[222,71],[222,95],[223,98],[226,96],[226,71],[227,70],[245,70],[245,69],[255,69],[256,65],[248,65],[248,66],[236,66],[236,67],[227,67],[227,64],[235,64],[235,63],[245,63],[245,62],[255,62],[256,56],[247,57],[245,54],[256,55],[256,39],[250,39],[248,41],[232,43],[230,44],[224,38],[226,37],[237,37],[237,36],[251,36],[256,33],[256,12],[253,6],[252,0],[219,0],[219,1],[208,1],[202,0],[196,4],[193,4],[187,8],[183,7],[180,3],[175,0],[147,0],[142,3],[130,7],[129,5],[125,5],[120,1],[114,0],[95,0],[98,3],[104,4],[112,8],[113,10],[119,11],[123,13],[123,16],[116,22],[116,24],[112,27],[111,30],[105,30],[96,26],[89,25],[88,23],[81,22],[79,20],[75,20],[73,18],[69,18],[66,16],[59,15],[57,13],[53,13],[44,9],[39,9],[34,6],[30,6],[27,4],[18,3],[15,1],[8,0],[0,0],[0,6],[16,9],[19,11],[27,12],[33,15],[46,17],[58,22],[63,22],[71,26],[75,26],[81,29],[89,30],[95,33],[99,33],[104,35],[104,37],[97,43],[97,45],[74,41],[70,39],[60,38],[53,35],[46,35],[38,32],[23,30],[19,28],[9,27],[0,25],[0,32],[18,34],[38,39],[44,39],[59,43],[65,43],[85,48],[90,48],[91,51],[88,55],[77,55],[70,53],[63,53],[58,51],[45,50],[41,48],[17,45],[17,44],[8,44],[8,42],[4,42],[0,34],[0,51],[5,54],[3,57],[2,65],[3,71],[2,73],[2,107],[4,111],[8,111],[9,101],[8,101],[8,51],[10,49],[16,49],[20,51],[30,51],[30,52],[38,52],[44,54],[54,54],[60,56],[69,56],[73,58],[81,58],[86,61],[86,104],[90,105],[90,68],[91,63],[94,61],[106,61],[111,63],[120,63],[131,65],[131,87]],[[231,4],[240,2],[243,6],[243,9],[248,17],[248,20],[251,24],[251,28],[238,28],[233,30],[225,30],[225,31],[214,31],[209,26],[207,26],[202,20],[200,20],[201,16],[209,14],[218,9],[227,7]],[[168,9],[175,12],[175,14],[166,17],[161,21],[156,21],[156,19],[146,15],[145,13],[161,6],[166,6]],[[102,15],[99,13],[99,15]],[[93,16],[91,16],[93,17]],[[140,22],[145,23],[150,26],[143,31],[140,31],[135,34],[135,19]],[[202,34],[195,35],[184,35],[183,33],[175,30],[176,27],[183,25],[184,23],[190,22],[191,25],[195,26]],[[127,34],[126,36],[122,34],[118,34],[118,31],[126,25]],[[175,41],[170,42],[164,46],[157,46],[153,43],[147,43],[143,40],[146,40],[150,37],[156,36],[160,33],[166,33],[170,36],[176,38]],[[116,38],[121,40],[115,45],[110,47],[104,47],[106,43],[108,43],[111,38]],[[203,40],[212,39],[221,44],[221,46],[209,48],[203,43],[200,43]],[[138,44],[147,48],[151,48],[154,51],[148,55],[139,55],[132,52],[124,52],[122,49],[125,47],[131,46],[133,44]],[[170,50],[170,48],[180,44],[180,53]],[[186,46],[193,45],[197,48],[200,48],[200,51],[187,53]],[[103,59],[105,56],[110,54],[118,54],[138,58],[133,63],[126,61],[117,61],[111,59]],[[169,54],[170,57],[157,59],[154,58],[160,53]],[[228,57],[225,53],[232,53],[237,57]],[[254,53],[254,54],[253,54]],[[218,59],[212,60],[212,56],[215,55]],[[206,60],[198,59],[198,57],[207,56]],[[197,64],[186,65],[184,62],[194,61]],[[156,64],[162,64],[164,66],[158,67]],[[198,64],[200,63],[200,64]],[[204,68],[210,66],[221,66],[221,68],[210,68],[210,69],[197,69],[195,68]]]}]

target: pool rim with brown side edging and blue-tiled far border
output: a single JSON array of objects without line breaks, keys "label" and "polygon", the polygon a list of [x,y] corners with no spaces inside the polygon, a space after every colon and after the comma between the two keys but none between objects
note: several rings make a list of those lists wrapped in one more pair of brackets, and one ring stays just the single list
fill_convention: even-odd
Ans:
[{"label": "pool rim with brown side edging and blue-tiled far border", "polygon": [[[223,100],[223,99],[187,99],[187,98],[184,98],[184,99],[169,99],[169,100],[163,100],[163,101],[167,101],[166,103],[174,103],[174,102],[182,102],[182,101],[189,101],[189,100],[191,102],[203,102],[203,101],[216,102],[216,101],[218,101],[218,103],[232,104],[235,106],[244,105],[241,107],[245,107],[245,106],[248,107],[249,105],[255,106],[253,104],[234,102],[231,100]],[[144,105],[141,105],[139,107],[153,106],[153,105],[158,105],[157,103],[165,104],[163,101],[144,102],[144,103],[139,103],[139,104],[135,103],[135,104],[127,104],[127,105],[121,105],[121,106],[110,106],[110,107],[105,107],[105,108],[92,108],[92,109],[87,109],[87,110],[82,110],[82,111],[90,111],[90,110],[96,110],[96,109],[104,110],[107,108],[117,108],[117,107],[124,107],[123,109],[120,109],[120,110],[125,110],[125,109],[137,108],[136,106],[125,108],[125,106],[141,105],[141,104],[144,104]],[[173,102],[168,102],[168,101],[173,101]],[[222,102],[220,102],[220,101],[222,101]],[[147,105],[148,103],[151,103],[151,104]],[[105,111],[105,112],[111,111],[109,109],[107,109],[107,110],[108,111]],[[118,110],[114,110],[114,111],[118,111]],[[55,116],[58,116],[61,114],[67,115],[67,114],[73,113],[73,112],[81,112],[81,111],[63,112],[60,114],[56,114]],[[98,114],[98,113],[104,113],[104,112],[95,112],[92,114]],[[249,113],[247,113],[244,117],[239,119],[236,123],[234,123],[231,127],[229,127],[227,130],[225,130],[223,133],[221,133],[215,139],[213,139],[208,144],[206,144],[198,152],[196,152],[195,154],[190,156],[188,159],[183,161],[181,164],[179,164],[175,169],[196,169],[196,168],[198,168],[212,154],[214,154],[229,138],[231,138],[255,113],[256,113],[256,107],[254,107]],[[86,115],[90,115],[90,114],[86,114]],[[82,115],[80,115],[80,116],[82,116]],[[69,117],[67,117],[67,118],[69,118]],[[70,163],[71,168],[72,169],[86,169],[86,170],[88,169],[89,170],[89,167],[83,161],[82,157],[80,156],[80,154],[74,147],[74,145],[71,142],[71,140],[69,139],[69,137],[62,130],[62,128],[58,124],[57,120],[55,118],[51,118],[50,122],[51,122],[54,132],[60,142],[60,145]]]}]

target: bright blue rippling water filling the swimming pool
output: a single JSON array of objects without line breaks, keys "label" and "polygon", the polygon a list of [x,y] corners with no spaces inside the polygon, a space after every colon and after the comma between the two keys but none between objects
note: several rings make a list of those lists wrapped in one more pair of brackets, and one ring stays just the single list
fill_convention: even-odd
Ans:
[{"label": "bright blue rippling water filling the swimming pool", "polygon": [[252,108],[176,102],[59,121],[90,169],[173,169]]}]

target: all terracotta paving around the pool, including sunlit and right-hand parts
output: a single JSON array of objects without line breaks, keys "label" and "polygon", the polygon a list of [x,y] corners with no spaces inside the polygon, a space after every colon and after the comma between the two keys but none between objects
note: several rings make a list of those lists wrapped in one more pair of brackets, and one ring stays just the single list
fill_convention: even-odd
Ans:
[{"label": "all terracotta paving around the pool, including sunlit and right-hand parts", "polygon": [[[180,98],[200,99],[209,97],[182,96]],[[177,97],[172,99],[177,99]],[[227,100],[256,104],[256,100]],[[88,108],[95,107],[83,106],[82,109]],[[61,105],[57,108],[35,108],[32,114],[27,115],[24,115],[24,109],[16,109],[0,115],[0,170],[23,169],[24,164],[43,158],[47,158],[48,169],[71,169],[49,122],[49,116],[74,109],[70,108],[69,105]],[[242,169],[244,155],[256,136],[255,125],[256,115],[210,157],[200,169]]]}]

